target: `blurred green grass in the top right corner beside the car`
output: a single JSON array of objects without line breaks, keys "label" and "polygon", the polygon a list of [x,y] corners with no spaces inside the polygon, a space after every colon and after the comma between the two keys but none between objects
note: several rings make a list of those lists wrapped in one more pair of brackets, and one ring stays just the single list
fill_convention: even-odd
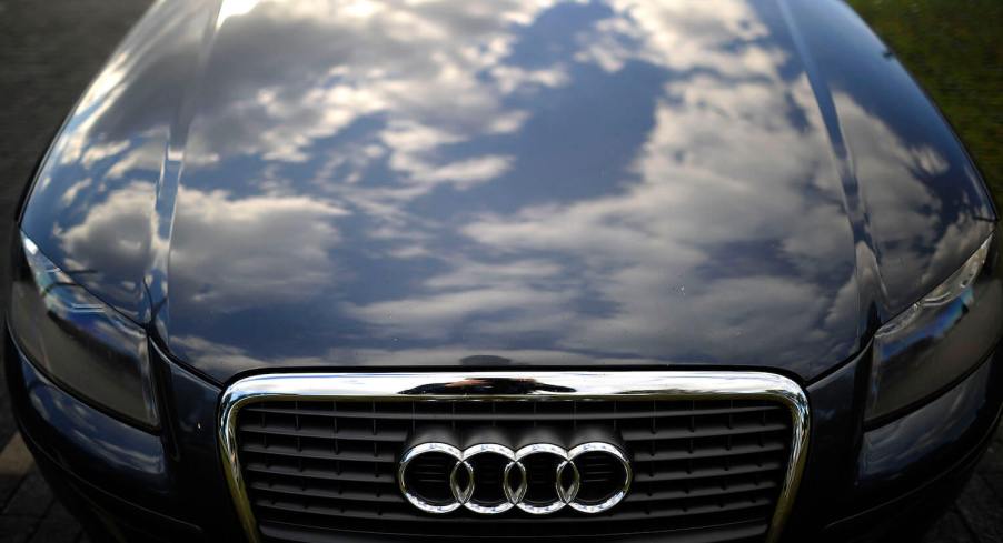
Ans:
[{"label": "blurred green grass in the top right corner beside the car", "polygon": [[1003,205],[1003,0],[848,3],[933,97]]}]

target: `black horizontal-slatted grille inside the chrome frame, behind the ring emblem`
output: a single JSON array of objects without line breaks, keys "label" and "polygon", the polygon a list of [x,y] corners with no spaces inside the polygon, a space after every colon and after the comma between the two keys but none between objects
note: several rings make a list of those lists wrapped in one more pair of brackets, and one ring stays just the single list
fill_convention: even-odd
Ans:
[{"label": "black horizontal-slatted grille inside the chrome frame, behind the ring emblem", "polygon": [[[626,499],[586,515],[433,515],[397,486],[408,440],[429,429],[596,429],[622,440],[634,469]],[[493,537],[657,534],[659,541],[762,542],[785,484],[792,412],[773,400],[265,399],[236,416],[247,501],[265,541],[339,541],[348,535]],[[589,459],[583,459],[589,462]],[[602,479],[610,466],[588,470]],[[441,480],[435,461],[416,477]],[[534,481],[529,481],[533,492]]]}]

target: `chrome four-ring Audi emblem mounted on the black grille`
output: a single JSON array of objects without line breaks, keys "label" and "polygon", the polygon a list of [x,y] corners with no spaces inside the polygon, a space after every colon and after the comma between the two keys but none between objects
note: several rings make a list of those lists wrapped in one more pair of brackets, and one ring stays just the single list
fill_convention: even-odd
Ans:
[{"label": "chrome four-ring Audi emblem mounted on the black grille", "polygon": [[536,443],[515,451],[496,443],[465,450],[423,443],[404,453],[397,470],[407,501],[435,514],[459,507],[486,515],[513,507],[535,515],[564,507],[602,513],[627,495],[632,479],[626,454],[603,442],[570,450]]}]

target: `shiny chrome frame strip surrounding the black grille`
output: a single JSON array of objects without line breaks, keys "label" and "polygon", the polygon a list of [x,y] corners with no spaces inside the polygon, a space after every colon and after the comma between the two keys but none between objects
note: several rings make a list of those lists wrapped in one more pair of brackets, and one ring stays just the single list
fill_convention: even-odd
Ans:
[{"label": "shiny chrome frame strip surrounding the black grille", "polygon": [[237,414],[262,400],[772,400],[792,418],[791,459],[766,542],[779,540],[801,482],[811,410],[804,390],[774,373],[731,371],[526,371],[443,373],[280,373],[230,385],[219,410],[219,450],[248,540],[261,541],[237,455]]}]

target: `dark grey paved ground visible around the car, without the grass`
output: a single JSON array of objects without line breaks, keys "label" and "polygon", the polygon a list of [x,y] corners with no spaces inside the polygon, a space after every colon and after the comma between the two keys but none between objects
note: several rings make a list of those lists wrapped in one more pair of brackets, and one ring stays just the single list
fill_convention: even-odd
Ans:
[{"label": "dark grey paved ground visible around the car, without the grass", "polygon": [[[0,0],[0,240],[38,157],[148,0]],[[7,254],[0,248],[0,254]],[[0,262],[0,274],[7,267]],[[0,275],[2,278],[2,275]],[[0,293],[0,301],[6,292]],[[86,541],[24,449],[0,373],[0,543]],[[1003,432],[924,543],[1003,543]]]}]

